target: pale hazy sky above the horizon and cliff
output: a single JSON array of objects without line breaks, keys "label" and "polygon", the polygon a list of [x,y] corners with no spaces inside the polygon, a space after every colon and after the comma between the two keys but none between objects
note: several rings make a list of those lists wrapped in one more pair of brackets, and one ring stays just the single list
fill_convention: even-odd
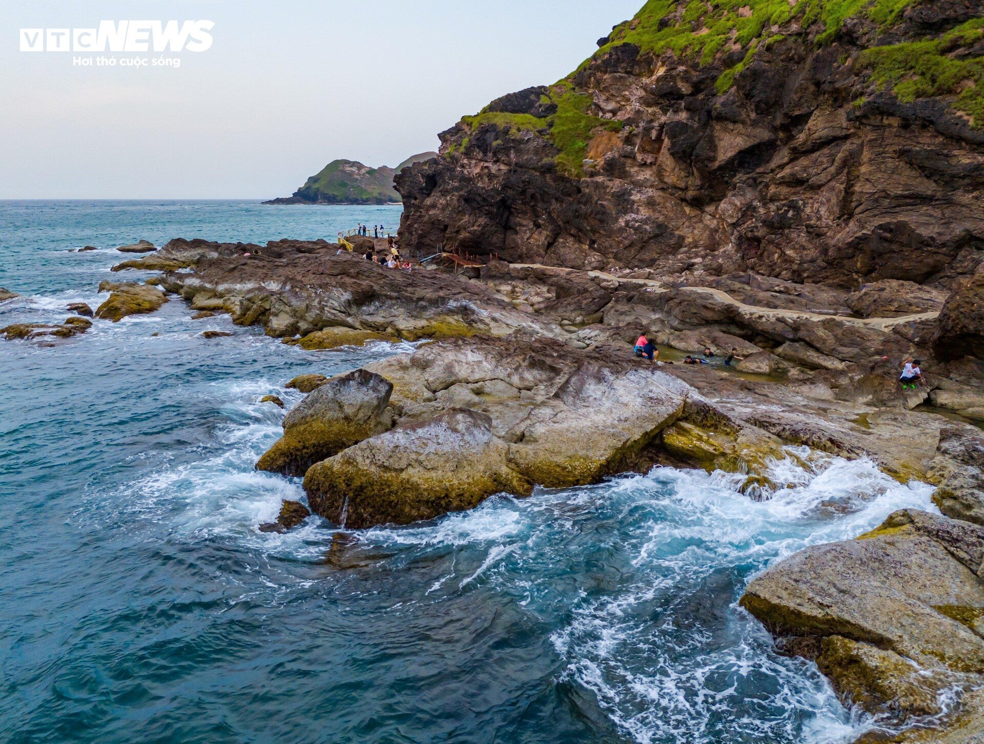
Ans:
[{"label": "pale hazy sky above the horizon and cliff", "polygon": [[[643,4],[2,0],[0,199],[266,199],[338,157],[393,166],[491,99],[563,78]],[[166,52],[178,69],[20,51],[20,29],[102,20],[210,20],[214,43]]]}]

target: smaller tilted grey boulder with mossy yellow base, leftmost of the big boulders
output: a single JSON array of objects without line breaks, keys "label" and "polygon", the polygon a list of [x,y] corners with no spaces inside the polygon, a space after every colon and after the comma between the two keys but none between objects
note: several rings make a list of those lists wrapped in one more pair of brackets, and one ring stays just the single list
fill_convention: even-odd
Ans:
[{"label": "smaller tilted grey boulder with mossy yellow base, leftmost of the big boulders", "polygon": [[283,437],[256,464],[258,469],[303,475],[315,463],[393,426],[387,409],[393,385],[357,369],[314,389],[283,419]]}]

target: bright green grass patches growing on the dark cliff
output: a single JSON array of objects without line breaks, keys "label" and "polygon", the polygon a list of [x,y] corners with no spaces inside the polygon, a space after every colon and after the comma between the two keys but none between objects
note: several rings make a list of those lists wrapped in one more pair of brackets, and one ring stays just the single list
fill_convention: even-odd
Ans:
[{"label": "bright green grass patches growing on the dark cliff", "polygon": [[[717,62],[725,69],[716,88],[726,93],[735,77],[752,63],[756,54],[784,38],[784,27],[796,22],[811,31],[817,43],[832,42],[852,17],[863,17],[887,29],[898,23],[907,7],[920,0],[647,0],[631,21],[617,26],[581,67],[550,89],[544,103],[556,104],[550,116],[488,111],[465,116],[461,124],[469,132],[491,124],[507,136],[522,131],[542,132],[560,151],[557,168],[580,178],[584,155],[592,134],[599,128],[618,131],[621,122],[588,113],[591,96],[574,86],[575,75],[594,59],[622,44],[635,44],[642,53],[661,55],[671,51],[701,65]],[[930,0],[922,0],[929,2]],[[984,58],[954,59],[954,48],[974,43],[984,35],[984,20],[976,19],[939,38],[878,46],[863,52],[859,67],[903,101],[955,95],[953,107],[967,114],[975,127],[984,126]],[[744,52],[740,58],[737,52]],[[727,53],[727,56],[725,56]],[[738,61],[734,61],[735,59]],[[729,62],[725,62],[729,60]],[[467,147],[470,135],[450,153]]]}]

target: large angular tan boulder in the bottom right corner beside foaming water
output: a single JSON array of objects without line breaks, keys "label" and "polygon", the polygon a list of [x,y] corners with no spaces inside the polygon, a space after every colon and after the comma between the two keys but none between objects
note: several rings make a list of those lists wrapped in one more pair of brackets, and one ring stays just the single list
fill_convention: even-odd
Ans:
[{"label": "large angular tan boulder in the bottom right corner beside foaming water", "polygon": [[984,527],[896,512],[773,566],[741,603],[870,711],[941,713],[943,689],[984,681]]}]

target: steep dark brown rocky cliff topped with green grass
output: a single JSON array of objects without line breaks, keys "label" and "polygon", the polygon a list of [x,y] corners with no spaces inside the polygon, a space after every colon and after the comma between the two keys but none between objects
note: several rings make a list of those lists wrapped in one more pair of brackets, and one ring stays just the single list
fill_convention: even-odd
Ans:
[{"label": "steep dark brown rocky cliff topped with green grass", "polygon": [[984,258],[984,2],[649,0],[397,179],[404,246],[953,288]]}]

